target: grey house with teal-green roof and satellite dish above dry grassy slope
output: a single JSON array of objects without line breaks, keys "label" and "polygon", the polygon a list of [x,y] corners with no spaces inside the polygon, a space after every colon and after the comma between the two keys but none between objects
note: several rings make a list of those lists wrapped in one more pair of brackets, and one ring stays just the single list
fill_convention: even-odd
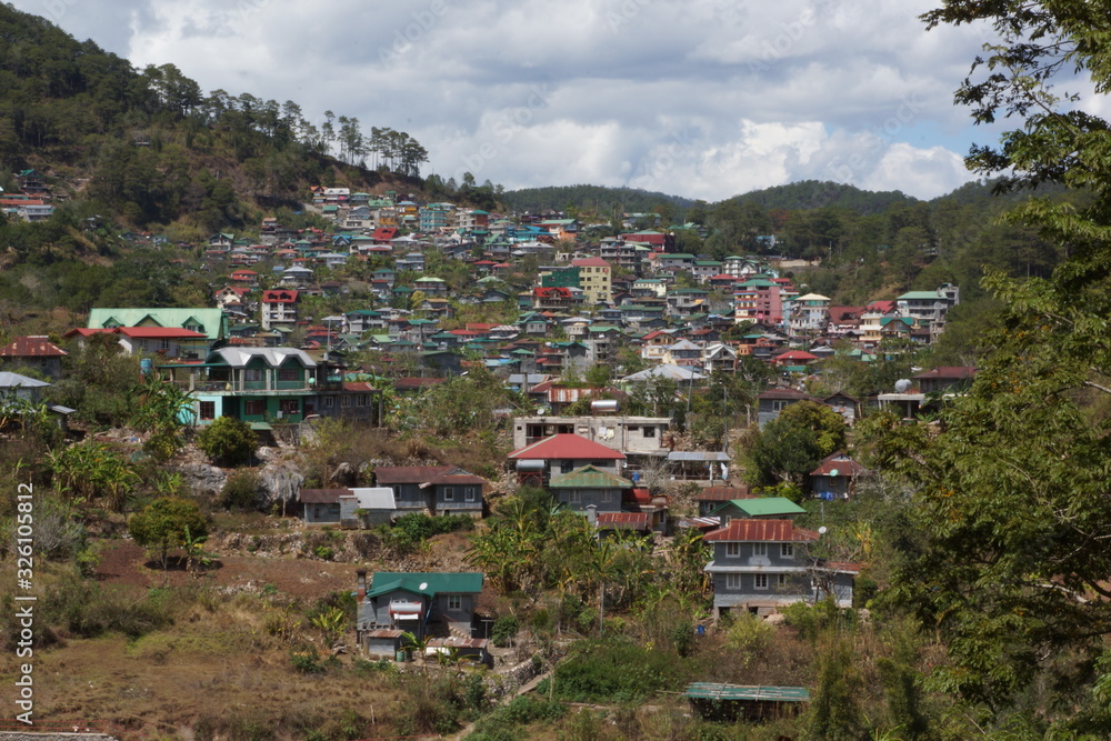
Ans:
[{"label": "grey house with teal-green roof and satellite dish above dry grassy slope", "polygon": [[474,607],[482,593],[481,573],[376,572],[367,583],[358,569],[356,635],[366,648],[367,633],[403,630],[428,635],[471,638]]}]

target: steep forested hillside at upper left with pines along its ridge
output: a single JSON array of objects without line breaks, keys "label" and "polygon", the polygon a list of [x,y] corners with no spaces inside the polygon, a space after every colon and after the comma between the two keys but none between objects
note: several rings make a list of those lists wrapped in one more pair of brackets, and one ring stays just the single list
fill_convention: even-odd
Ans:
[{"label": "steep forested hillside at upper left with pines along its ridge", "polygon": [[330,111],[318,128],[292,100],[204,94],[172,64],[137,70],[4,4],[0,90],[0,187],[36,168],[83,210],[141,227],[237,227],[309,184],[416,192],[428,161],[404,132]]}]

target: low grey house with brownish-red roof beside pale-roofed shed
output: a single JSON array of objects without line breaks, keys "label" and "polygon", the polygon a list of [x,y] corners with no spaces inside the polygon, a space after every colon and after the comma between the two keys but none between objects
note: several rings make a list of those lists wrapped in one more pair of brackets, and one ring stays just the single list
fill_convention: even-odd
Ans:
[{"label": "low grey house with brownish-red roof beside pale-roofed shed", "polygon": [[380,465],[374,482],[393,491],[397,513],[482,517],[486,479],[457,465]]}]

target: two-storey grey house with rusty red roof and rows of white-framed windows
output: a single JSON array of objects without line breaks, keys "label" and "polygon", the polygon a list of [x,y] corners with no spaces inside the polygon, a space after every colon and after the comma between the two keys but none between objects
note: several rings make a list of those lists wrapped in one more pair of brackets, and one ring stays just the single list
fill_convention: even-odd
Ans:
[{"label": "two-storey grey house with rusty red roof and rows of white-framed windows", "polygon": [[839,608],[851,607],[858,569],[811,558],[810,545],[820,538],[791,520],[733,520],[707,533],[713,560],[704,571],[713,581],[714,619],[742,610],[767,615],[825,597]]}]

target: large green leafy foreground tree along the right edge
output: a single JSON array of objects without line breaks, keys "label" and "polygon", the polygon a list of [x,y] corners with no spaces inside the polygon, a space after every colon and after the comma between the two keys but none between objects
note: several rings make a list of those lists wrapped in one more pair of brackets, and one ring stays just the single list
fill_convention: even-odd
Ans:
[{"label": "large green leafy foreground tree along the right edge", "polygon": [[[985,47],[957,93],[978,122],[1013,117],[998,148],[968,162],[1002,173],[999,190],[1055,183],[1082,200],[1023,201],[1009,216],[1070,257],[1049,278],[992,271],[1001,328],[970,393],[942,413],[935,438],[892,430],[919,487],[890,597],[947,638],[934,684],[983,723],[1035,720],[1064,738],[1111,733],[1101,689],[1111,635],[1111,126],[1050,89],[1068,72],[1098,96],[1111,87],[1108,3],[949,0],[931,26],[988,22]],[[1032,687],[1052,679],[1040,701]]]}]

